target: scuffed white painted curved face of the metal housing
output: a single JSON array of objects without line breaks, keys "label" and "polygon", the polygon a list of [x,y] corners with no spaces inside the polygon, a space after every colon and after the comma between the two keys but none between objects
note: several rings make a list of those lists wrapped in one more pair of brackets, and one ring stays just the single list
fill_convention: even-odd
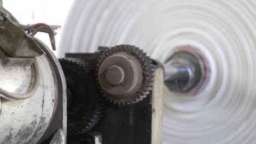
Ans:
[{"label": "scuffed white painted curved face of the metal housing", "polygon": [[[2,99],[0,143],[36,143],[49,125],[55,105],[53,74],[45,55],[37,57],[37,62],[40,68],[37,92],[26,100]],[[0,87],[25,93],[30,87],[31,67],[4,67],[0,59],[0,79]]]}]

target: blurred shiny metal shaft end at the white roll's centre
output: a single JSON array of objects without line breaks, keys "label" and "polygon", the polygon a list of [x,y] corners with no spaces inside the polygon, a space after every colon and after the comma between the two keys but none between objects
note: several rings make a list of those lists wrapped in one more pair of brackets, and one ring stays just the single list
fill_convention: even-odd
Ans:
[{"label": "blurred shiny metal shaft end at the white roll's centre", "polygon": [[165,85],[170,91],[189,92],[197,86],[202,77],[200,59],[186,51],[174,53],[164,68]]}]

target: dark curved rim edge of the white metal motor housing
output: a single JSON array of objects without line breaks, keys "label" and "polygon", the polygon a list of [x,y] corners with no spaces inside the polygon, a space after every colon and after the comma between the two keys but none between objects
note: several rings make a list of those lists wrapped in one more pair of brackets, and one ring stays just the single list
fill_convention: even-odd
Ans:
[{"label": "dark curved rim edge of the white metal motor housing", "polygon": [[[48,140],[51,140],[51,136],[54,135],[57,129],[62,128],[67,131],[67,100],[66,100],[66,80],[63,74],[59,60],[55,57],[54,53],[46,46],[42,41],[36,39],[38,44],[42,47],[42,50],[46,53],[47,60],[50,63],[51,70],[53,72],[54,83],[55,83],[55,95],[56,95],[56,104],[54,107],[54,113],[52,121],[48,129],[46,129],[44,135],[41,137],[38,143],[48,144]],[[66,139],[63,141],[63,144],[66,143]]]}]

